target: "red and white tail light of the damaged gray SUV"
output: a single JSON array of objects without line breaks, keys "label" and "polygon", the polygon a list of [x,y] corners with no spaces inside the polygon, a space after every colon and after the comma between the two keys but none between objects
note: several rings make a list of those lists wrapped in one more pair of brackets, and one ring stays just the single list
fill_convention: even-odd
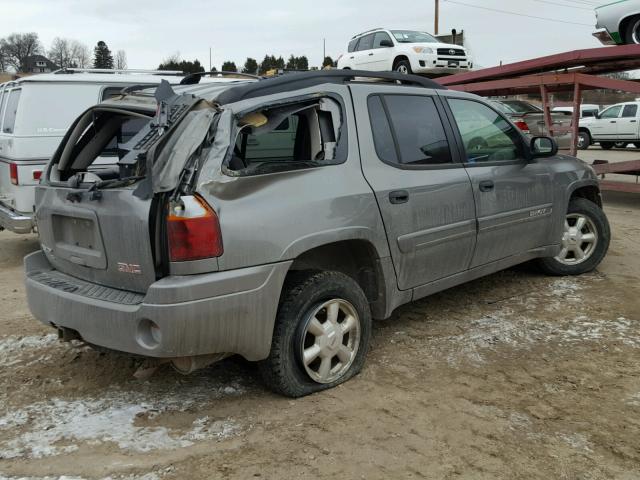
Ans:
[{"label": "red and white tail light of the damaged gray SUV", "polygon": [[169,259],[188,262],[222,255],[222,233],[216,212],[194,196],[180,197],[167,215]]}]

